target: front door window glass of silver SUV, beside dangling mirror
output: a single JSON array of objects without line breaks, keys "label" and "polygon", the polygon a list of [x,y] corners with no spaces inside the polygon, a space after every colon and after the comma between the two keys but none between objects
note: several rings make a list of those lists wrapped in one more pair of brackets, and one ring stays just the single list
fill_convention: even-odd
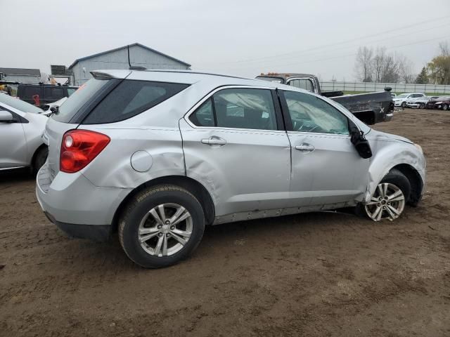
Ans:
[{"label": "front door window glass of silver SUV, beside dangling mirror", "polygon": [[307,93],[283,91],[293,131],[349,134],[347,117],[326,103],[325,100]]}]

